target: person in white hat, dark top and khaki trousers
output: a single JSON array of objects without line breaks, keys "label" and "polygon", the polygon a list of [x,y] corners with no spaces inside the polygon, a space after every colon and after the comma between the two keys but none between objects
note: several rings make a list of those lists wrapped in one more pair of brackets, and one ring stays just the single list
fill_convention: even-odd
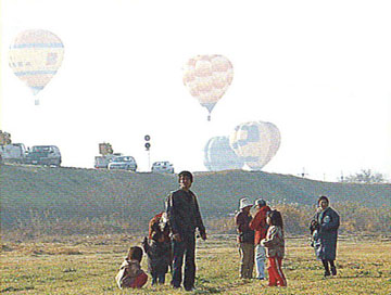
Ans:
[{"label": "person in white hat, dark top and khaki trousers", "polygon": [[253,204],[247,198],[240,200],[240,211],[235,216],[240,253],[240,278],[252,279],[254,268],[254,231],[250,229]]}]

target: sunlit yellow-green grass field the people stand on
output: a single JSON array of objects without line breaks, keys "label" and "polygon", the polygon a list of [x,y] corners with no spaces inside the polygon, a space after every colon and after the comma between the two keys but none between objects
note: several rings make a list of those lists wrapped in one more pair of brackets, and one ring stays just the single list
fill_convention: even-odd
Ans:
[{"label": "sunlit yellow-green grass field the people stand on", "polygon": [[[287,239],[283,270],[288,287],[267,287],[267,281],[238,278],[239,254],[232,235],[198,241],[197,291],[166,285],[121,291],[114,277],[130,245],[141,238],[104,235],[2,242],[3,294],[391,294],[391,241],[340,239],[336,278],[323,279],[321,264],[308,241]],[[142,260],[147,269],[147,259]]]}]

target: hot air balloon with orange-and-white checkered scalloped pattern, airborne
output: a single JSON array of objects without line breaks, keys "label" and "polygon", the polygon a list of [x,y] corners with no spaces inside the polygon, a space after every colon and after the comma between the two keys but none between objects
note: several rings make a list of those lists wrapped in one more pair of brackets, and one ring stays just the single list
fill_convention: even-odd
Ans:
[{"label": "hot air balloon with orange-and-white checkered scalloped pattern, airborne", "polygon": [[218,100],[234,78],[232,64],[223,55],[198,55],[184,67],[184,84],[202,106],[207,108],[207,120]]}]

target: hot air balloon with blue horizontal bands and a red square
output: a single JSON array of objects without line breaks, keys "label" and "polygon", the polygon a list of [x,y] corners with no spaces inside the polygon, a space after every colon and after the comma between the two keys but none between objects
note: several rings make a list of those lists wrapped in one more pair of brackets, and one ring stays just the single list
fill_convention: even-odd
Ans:
[{"label": "hot air balloon with blue horizontal bands and a red square", "polygon": [[[10,47],[10,66],[36,95],[61,66],[64,46],[53,33],[30,29],[18,34]],[[39,100],[36,99],[36,105]]]}]

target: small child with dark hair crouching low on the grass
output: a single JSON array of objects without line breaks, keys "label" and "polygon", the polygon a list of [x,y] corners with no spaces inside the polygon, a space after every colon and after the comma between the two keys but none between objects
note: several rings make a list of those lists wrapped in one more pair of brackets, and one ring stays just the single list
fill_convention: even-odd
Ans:
[{"label": "small child with dark hair crouching low on the grass", "polygon": [[115,281],[119,288],[142,287],[148,280],[147,273],[141,269],[142,248],[130,247],[127,257],[124,259]]}]

